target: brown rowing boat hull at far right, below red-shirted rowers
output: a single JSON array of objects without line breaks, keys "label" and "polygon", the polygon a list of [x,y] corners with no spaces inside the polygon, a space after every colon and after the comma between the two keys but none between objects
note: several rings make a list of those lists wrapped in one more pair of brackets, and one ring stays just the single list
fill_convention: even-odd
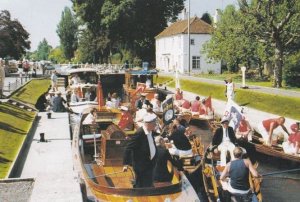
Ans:
[{"label": "brown rowing boat hull at far right, below red-shirted rowers", "polygon": [[249,142],[250,145],[254,146],[256,151],[259,153],[266,154],[268,156],[273,156],[280,159],[286,159],[289,161],[300,163],[300,155],[292,155],[284,153],[281,144],[273,144],[268,146],[259,141],[261,137],[257,133],[252,136],[252,142]]}]

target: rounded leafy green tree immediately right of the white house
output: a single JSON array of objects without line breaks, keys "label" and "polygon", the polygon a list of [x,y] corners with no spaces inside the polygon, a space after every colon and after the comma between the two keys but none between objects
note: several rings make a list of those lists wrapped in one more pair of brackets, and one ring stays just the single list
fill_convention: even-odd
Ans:
[{"label": "rounded leafy green tree immediately right of the white house", "polygon": [[203,52],[214,62],[225,61],[229,71],[239,70],[241,64],[250,68],[253,62],[262,70],[262,60],[266,58],[263,54],[267,51],[252,36],[255,29],[253,23],[243,18],[239,10],[232,5],[227,6],[220,12],[220,20],[211,40],[204,45]]}]

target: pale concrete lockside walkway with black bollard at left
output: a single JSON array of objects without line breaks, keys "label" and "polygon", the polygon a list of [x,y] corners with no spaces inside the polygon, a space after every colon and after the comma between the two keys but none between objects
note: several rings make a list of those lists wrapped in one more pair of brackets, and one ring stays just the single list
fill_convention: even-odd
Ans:
[{"label": "pale concrete lockside walkway with black bollard at left", "polygon": [[[21,178],[35,178],[31,202],[82,201],[80,186],[73,170],[67,113],[40,112]],[[47,142],[39,142],[45,133]]]}]

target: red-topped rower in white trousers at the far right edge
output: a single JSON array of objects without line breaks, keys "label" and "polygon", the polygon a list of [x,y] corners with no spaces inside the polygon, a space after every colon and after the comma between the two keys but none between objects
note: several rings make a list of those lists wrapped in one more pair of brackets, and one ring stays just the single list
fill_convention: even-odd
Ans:
[{"label": "red-topped rower in white trousers at the far right edge", "polygon": [[283,151],[287,154],[298,154],[300,147],[300,128],[299,124],[291,125],[292,133],[288,140],[282,143]]}]

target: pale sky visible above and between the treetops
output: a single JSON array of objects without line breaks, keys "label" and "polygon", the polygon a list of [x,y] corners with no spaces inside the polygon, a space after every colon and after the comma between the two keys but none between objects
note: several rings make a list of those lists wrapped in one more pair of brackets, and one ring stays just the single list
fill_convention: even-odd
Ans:
[{"label": "pale sky visible above and between the treetops", "polygon": [[[186,4],[187,4],[186,0]],[[223,9],[237,0],[190,0],[191,17],[214,14],[217,8]],[[65,6],[71,7],[70,0],[0,0],[0,10],[8,10],[13,19],[18,19],[30,33],[31,50],[46,38],[53,47],[59,45],[56,34],[57,24]]]}]

